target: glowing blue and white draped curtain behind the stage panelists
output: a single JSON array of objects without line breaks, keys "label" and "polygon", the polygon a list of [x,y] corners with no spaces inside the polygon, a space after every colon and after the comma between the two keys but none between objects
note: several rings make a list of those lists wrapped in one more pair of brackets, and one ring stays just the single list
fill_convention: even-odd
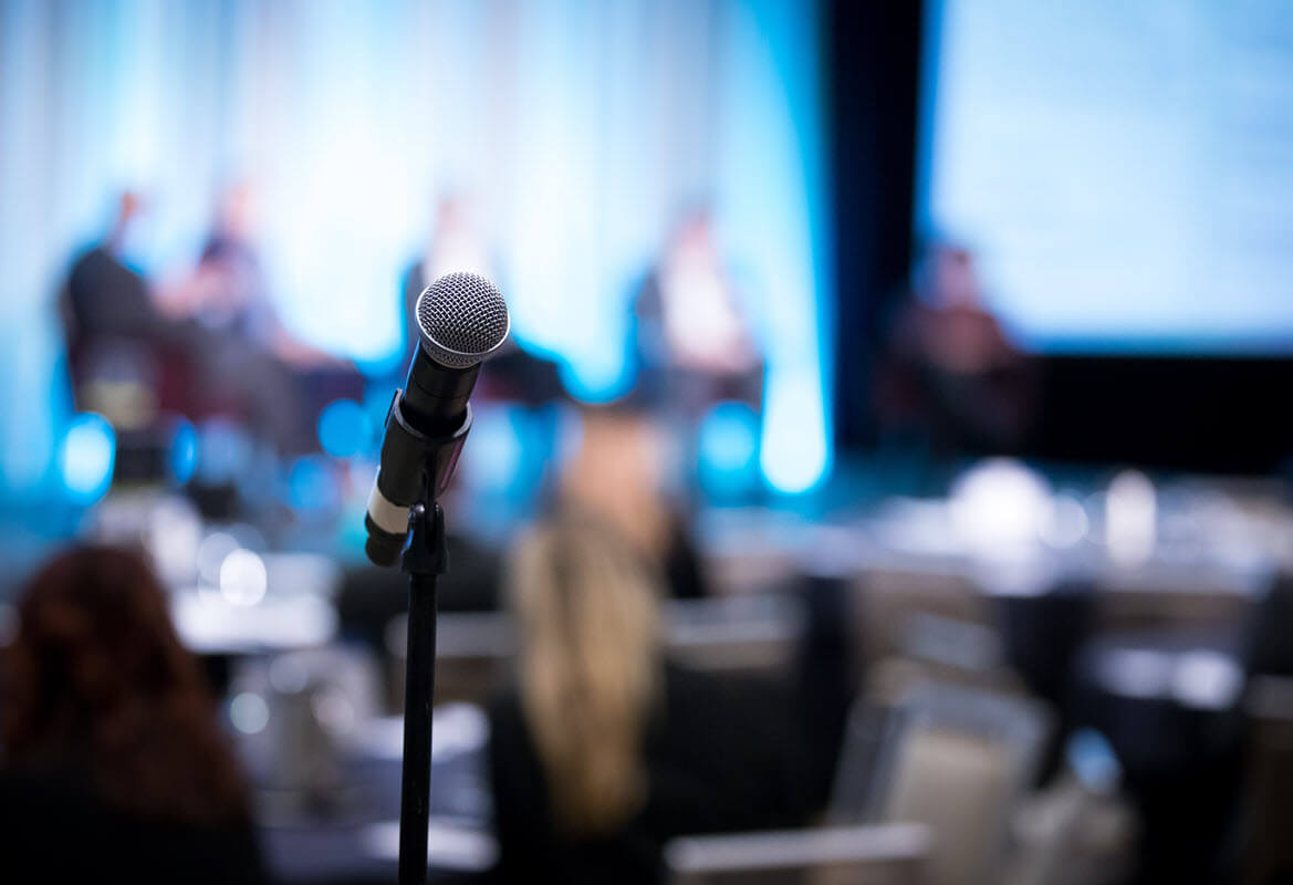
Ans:
[{"label": "glowing blue and white draped curtain behind the stage panelists", "polygon": [[626,383],[626,311],[680,206],[711,202],[769,361],[762,466],[829,467],[818,13],[795,0],[0,4],[0,498],[58,481],[54,295],[123,188],[153,274],[224,182],[257,186],[274,300],[380,369],[437,194],[486,220],[515,330],[573,389]]}]

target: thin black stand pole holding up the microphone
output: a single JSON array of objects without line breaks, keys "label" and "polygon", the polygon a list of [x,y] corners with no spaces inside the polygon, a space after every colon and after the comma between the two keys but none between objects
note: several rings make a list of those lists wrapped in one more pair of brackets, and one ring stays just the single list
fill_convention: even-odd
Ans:
[{"label": "thin black stand pole holding up the microphone", "polygon": [[445,514],[428,481],[415,505],[402,571],[409,574],[403,770],[400,784],[400,885],[427,881],[431,814],[431,703],[436,682],[436,578],[445,573]]}]

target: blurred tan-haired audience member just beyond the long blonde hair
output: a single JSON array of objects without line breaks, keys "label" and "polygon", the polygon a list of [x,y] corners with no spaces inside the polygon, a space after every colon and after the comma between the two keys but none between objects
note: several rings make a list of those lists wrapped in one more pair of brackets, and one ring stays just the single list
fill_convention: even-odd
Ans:
[{"label": "blurred tan-haired audience member just beyond the long blonde hair", "polygon": [[706,595],[700,554],[665,494],[668,437],[636,395],[579,413],[579,448],[557,479],[557,511],[599,520],[663,573],[674,598]]}]

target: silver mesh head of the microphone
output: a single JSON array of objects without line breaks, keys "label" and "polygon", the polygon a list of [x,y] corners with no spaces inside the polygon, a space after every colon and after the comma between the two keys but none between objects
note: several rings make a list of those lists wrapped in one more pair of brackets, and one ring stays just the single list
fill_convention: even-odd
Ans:
[{"label": "silver mesh head of the microphone", "polygon": [[475,273],[446,273],[423,290],[414,313],[423,349],[450,369],[473,366],[497,351],[511,325],[503,294]]}]

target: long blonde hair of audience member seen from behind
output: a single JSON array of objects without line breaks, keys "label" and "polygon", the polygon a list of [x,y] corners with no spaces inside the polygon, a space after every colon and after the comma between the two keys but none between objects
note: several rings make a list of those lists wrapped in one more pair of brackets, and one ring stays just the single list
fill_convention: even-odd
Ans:
[{"label": "long blonde hair of audience member seen from behind", "polygon": [[512,559],[520,687],[559,825],[623,824],[646,792],[643,739],[659,691],[659,594],[639,558],[597,525],[528,533]]}]

